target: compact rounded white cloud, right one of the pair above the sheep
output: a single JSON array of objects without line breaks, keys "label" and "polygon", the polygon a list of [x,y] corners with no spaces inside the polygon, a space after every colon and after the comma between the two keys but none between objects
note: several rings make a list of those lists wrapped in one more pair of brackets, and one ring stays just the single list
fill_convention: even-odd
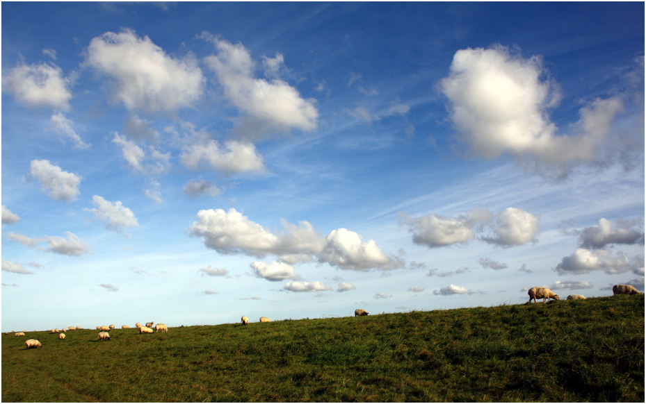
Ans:
[{"label": "compact rounded white cloud, right one of the pair above the sheep", "polygon": [[507,208],[496,218],[494,237],[482,237],[483,241],[499,246],[520,246],[535,242],[540,217],[517,208]]}]

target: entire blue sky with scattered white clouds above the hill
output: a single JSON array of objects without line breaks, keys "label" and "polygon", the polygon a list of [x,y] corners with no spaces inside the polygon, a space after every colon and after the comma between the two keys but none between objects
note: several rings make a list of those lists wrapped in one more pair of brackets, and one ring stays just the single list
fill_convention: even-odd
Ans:
[{"label": "entire blue sky with scattered white clouds above the hill", "polygon": [[644,289],[644,5],[3,3],[2,329]]}]

